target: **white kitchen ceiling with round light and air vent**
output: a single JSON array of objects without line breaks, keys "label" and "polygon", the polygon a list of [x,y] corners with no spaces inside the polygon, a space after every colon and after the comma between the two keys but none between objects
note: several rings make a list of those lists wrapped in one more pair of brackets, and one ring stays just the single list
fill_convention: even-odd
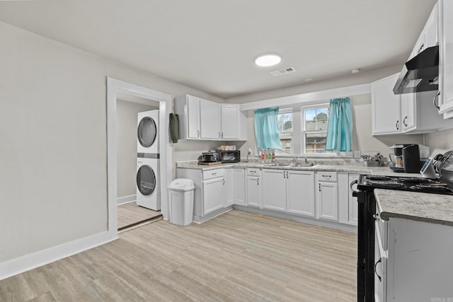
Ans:
[{"label": "white kitchen ceiling with round light and air vent", "polygon": [[[0,21],[221,98],[406,62],[435,0],[0,1]],[[282,55],[259,68],[264,53]],[[296,72],[272,76],[292,66]]]}]

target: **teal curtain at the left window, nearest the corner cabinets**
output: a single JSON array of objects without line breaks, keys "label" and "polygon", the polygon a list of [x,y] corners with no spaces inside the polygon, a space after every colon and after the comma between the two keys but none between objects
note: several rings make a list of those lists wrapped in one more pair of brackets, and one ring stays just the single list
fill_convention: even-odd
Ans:
[{"label": "teal curtain at the left window, nearest the corner cabinets", "polygon": [[282,149],[277,127],[278,107],[255,110],[255,137],[258,149]]}]

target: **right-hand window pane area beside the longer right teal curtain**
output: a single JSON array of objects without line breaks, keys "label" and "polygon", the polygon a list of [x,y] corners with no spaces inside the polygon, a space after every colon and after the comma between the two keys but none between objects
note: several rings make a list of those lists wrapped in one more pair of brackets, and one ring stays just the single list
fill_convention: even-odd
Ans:
[{"label": "right-hand window pane area beside the longer right teal curtain", "polygon": [[328,103],[302,107],[304,153],[331,153],[326,151],[328,108]]}]

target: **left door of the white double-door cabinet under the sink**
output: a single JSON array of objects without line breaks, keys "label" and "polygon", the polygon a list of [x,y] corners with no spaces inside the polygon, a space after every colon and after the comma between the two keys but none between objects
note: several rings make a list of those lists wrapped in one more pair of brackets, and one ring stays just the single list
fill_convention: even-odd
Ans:
[{"label": "left door of the white double-door cabinet under the sink", "polygon": [[263,208],[286,211],[286,170],[263,170]]}]

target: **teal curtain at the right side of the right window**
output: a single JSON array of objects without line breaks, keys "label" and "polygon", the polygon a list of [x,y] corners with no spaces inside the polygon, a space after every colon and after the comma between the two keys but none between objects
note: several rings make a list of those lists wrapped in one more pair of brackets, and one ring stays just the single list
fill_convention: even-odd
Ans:
[{"label": "teal curtain at the right side of the right window", "polygon": [[349,98],[334,98],[328,112],[328,151],[352,151],[352,109]]}]

